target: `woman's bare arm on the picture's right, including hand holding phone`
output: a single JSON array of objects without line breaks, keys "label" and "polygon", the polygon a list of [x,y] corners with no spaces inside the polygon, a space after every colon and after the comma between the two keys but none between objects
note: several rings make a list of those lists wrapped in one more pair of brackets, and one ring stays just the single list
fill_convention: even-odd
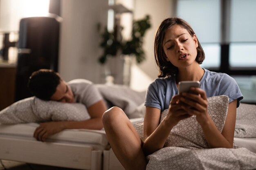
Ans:
[{"label": "woman's bare arm on the picture's right, including hand holding phone", "polygon": [[237,100],[229,104],[225,125],[222,133],[220,133],[207,113],[207,97],[205,91],[200,88],[191,88],[191,90],[200,95],[193,95],[191,93],[182,94],[184,97],[181,98],[181,101],[186,103],[183,104],[182,108],[190,114],[196,115],[196,119],[202,126],[210,148],[233,148]]}]

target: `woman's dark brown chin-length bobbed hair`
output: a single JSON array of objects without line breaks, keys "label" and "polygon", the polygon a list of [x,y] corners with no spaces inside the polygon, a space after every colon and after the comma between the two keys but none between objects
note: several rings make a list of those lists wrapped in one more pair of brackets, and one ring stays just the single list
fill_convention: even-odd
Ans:
[{"label": "woman's dark brown chin-length bobbed hair", "polygon": [[[191,37],[195,34],[189,23],[186,21],[182,20],[181,18],[167,18],[162,23],[157,29],[157,33],[155,35],[155,61],[157,63],[157,66],[159,67],[159,75],[158,77],[166,77],[166,76],[173,76],[178,73],[178,68],[174,66],[171,62],[168,62],[166,60],[166,54],[164,53],[163,49],[163,41],[164,41],[164,36],[165,33],[168,29],[170,29],[174,25],[179,25],[182,28],[186,29]],[[198,62],[198,64],[202,64],[204,61],[204,51],[202,49],[202,46],[200,42],[198,41],[198,47],[196,48],[197,50],[197,56],[195,58],[195,61]]]}]

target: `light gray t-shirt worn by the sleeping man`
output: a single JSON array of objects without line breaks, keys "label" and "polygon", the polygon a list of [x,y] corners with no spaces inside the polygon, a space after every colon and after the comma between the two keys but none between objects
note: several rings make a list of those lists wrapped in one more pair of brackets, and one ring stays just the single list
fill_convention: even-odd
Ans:
[{"label": "light gray t-shirt worn by the sleeping man", "polygon": [[74,94],[75,102],[84,104],[86,108],[103,99],[98,88],[89,80],[73,79],[67,82]]}]

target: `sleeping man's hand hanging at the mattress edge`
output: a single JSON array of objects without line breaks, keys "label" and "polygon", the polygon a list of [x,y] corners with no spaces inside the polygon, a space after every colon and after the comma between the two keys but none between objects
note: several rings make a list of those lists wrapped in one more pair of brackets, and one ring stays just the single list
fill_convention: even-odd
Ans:
[{"label": "sleeping man's hand hanging at the mattress edge", "polygon": [[34,138],[38,141],[45,141],[45,139],[64,130],[64,122],[62,121],[50,121],[40,123],[34,132]]}]

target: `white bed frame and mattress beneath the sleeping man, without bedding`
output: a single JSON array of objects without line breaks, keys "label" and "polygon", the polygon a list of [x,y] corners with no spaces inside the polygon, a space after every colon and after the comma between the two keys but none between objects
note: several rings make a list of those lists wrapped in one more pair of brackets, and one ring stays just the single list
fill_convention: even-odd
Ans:
[{"label": "white bed frame and mattress beneath the sleeping man, without bedding", "polygon": [[[143,118],[131,119],[141,122]],[[32,136],[36,123],[0,125],[0,159],[82,170],[124,170],[103,130],[64,130],[43,143]],[[256,153],[256,137],[234,139]]]}]

